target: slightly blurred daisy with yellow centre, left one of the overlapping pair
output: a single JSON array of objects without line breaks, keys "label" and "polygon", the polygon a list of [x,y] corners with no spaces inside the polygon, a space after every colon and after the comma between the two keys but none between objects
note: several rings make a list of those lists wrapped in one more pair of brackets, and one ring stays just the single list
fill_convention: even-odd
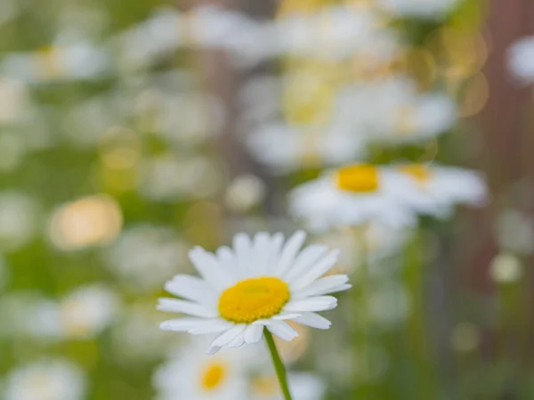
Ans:
[{"label": "slightly blurred daisy with yellow centre, left one of the overlapping pair", "polygon": [[290,212],[313,230],[380,222],[400,228],[415,215],[399,201],[396,173],[371,164],[353,164],[304,183],[290,195]]}]

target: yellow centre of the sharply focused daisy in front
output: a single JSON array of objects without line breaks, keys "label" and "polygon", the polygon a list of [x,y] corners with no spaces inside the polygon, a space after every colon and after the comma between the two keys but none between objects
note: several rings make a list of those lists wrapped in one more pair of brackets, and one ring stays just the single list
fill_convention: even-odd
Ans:
[{"label": "yellow centre of the sharply focused daisy in front", "polygon": [[289,286],[279,278],[251,278],[223,292],[219,298],[219,312],[228,321],[251,324],[279,314],[289,297]]}]

